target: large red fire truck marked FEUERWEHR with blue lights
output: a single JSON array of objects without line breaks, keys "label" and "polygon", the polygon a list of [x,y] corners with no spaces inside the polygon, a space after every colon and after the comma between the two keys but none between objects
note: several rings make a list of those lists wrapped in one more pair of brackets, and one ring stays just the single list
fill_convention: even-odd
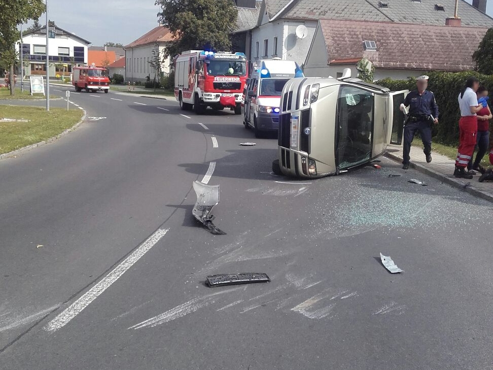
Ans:
[{"label": "large red fire truck marked FEUERWEHR with blue lights", "polygon": [[230,108],[241,114],[241,94],[247,80],[243,53],[190,50],[174,58],[174,96],[183,110],[204,113]]}]

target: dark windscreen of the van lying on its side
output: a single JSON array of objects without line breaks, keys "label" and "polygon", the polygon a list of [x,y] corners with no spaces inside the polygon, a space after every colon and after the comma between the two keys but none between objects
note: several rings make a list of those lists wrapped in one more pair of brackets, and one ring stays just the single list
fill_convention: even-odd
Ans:
[{"label": "dark windscreen of the van lying on its side", "polygon": [[338,170],[370,160],[373,146],[374,94],[341,85],[337,98],[335,158]]}]

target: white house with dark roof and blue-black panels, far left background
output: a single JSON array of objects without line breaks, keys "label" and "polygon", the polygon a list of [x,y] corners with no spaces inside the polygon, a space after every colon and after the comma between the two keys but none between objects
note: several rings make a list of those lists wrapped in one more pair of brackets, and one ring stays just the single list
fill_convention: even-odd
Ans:
[{"label": "white house with dark roof and blue-black panels, far left background", "polygon": [[[89,41],[58,26],[48,27],[48,55],[50,78],[70,76],[72,67],[87,64]],[[21,41],[17,42],[19,51]],[[46,75],[46,26],[26,33],[22,37],[24,75]]]}]

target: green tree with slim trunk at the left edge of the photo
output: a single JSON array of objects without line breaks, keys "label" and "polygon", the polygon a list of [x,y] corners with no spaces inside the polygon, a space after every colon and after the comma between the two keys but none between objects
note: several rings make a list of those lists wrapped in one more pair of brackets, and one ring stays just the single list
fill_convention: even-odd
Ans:
[{"label": "green tree with slim trunk at the left edge of the photo", "polygon": [[[39,18],[44,11],[42,0],[0,0],[0,60],[9,65],[12,82],[17,61],[15,43],[20,39],[17,26],[29,19]],[[11,83],[11,95],[14,95],[14,89],[15,84]]]}]

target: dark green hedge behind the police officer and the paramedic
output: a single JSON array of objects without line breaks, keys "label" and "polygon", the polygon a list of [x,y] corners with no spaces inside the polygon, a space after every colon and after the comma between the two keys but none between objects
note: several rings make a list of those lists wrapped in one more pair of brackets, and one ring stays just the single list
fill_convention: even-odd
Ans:
[{"label": "dark green hedge behind the police officer and the paramedic", "polygon": [[[442,144],[456,145],[459,142],[459,118],[461,113],[457,96],[464,87],[468,77],[474,76],[481,81],[481,85],[488,89],[488,93],[493,96],[493,76],[481,75],[477,72],[429,72],[428,90],[435,93],[438,109],[440,111],[440,123],[433,128],[434,140]],[[380,86],[387,87],[392,91],[414,90],[416,80],[392,80],[386,78],[376,82]],[[491,108],[491,107],[490,107]]]}]

